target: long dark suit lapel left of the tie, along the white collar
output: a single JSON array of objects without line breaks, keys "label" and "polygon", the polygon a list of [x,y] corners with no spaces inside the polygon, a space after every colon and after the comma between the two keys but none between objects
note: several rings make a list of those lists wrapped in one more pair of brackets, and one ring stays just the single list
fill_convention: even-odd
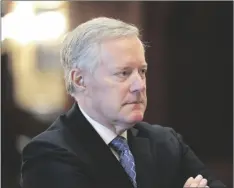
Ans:
[{"label": "long dark suit lapel left of the tie, along the white collar", "polygon": [[67,113],[67,120],[66,125],[91,158],[89,165],[94,177],[99,181],[103,179],[105,187],[133,188],[121,164],[82,115],[77,104]]}]

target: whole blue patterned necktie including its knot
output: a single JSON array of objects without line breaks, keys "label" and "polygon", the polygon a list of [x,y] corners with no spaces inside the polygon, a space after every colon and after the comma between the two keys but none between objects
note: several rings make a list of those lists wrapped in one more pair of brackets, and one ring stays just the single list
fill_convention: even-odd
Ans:
[{"label": "whole blue patterned necktie including its knot", "polygon": [[111,141],[110,146],[119,154],[120,164],[123,166],[126,173],[130,177],[133,186],[136,188],[137,183],[135,162],[126,139],[122,136],[117,136],[114,140]]}]

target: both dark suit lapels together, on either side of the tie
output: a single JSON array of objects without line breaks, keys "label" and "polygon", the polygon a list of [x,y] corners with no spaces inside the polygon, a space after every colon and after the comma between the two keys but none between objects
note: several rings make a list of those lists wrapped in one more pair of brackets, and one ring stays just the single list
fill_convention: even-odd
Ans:
[{"label": "both dark suit lapels together, on either side of the tie", "polygon": [[[94,167],[97,178],[103,178],[106,187],[132,188],[132,183],[121,164],[108,145],[83,116],[76,103],[66,116],[66,125],[71,129],[79,145],[81,144],[93,159],[91,165]],[[141,127],[142,123],[138,123],[134,128],[127,131],[128,144],[136,163],[138,187],[153,188],[156,181],[154,169],[156,159],[153,159],[149,138],[141,134]]]}]

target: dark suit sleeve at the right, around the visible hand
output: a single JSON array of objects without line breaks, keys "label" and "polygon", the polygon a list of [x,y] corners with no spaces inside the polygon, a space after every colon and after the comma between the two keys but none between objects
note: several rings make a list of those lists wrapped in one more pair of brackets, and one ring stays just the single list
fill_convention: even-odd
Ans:
[{"label": "dark suit sleeve at the right, around the visible hand", "polygon": [[186,182],[189,177],[196,177],[198,174],[201,174],[207,179],[208,186],[210,188],[225,188],[226,186],[220,180],[216,179],[214,174],[206,168],[192,149],[184,143],[182,136],[176,133],[173,129],[170,129],[170,131],[177,138],[180,144],[183,180]]}]

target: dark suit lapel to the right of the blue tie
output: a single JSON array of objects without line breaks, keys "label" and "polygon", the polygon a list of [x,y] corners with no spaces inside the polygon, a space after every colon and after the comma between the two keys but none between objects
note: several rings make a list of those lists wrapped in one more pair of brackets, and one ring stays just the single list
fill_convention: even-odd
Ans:
[{"label": "dark suit lapel to the right of the blue tie", "polygon": [[155,169],[156,158],[153,158],[153,154],[150,148],[150,140],[141,136],[138,129],[132,128],[128,131],[128,143],[136,163],[136,179],[138,187],[158,187],[158,175],[157,169]]}]

